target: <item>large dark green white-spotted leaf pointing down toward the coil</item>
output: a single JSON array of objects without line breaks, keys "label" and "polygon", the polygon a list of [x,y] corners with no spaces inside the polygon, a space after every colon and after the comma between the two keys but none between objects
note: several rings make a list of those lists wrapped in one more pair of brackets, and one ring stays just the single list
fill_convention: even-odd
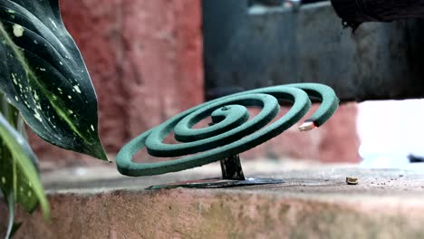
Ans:
[{"label": "large dark green white-spotted leaf pointing down toward the coil", "polygon": [[42,139],[107,159],[97,97],[58,0],[0,1],[0,90]]}]

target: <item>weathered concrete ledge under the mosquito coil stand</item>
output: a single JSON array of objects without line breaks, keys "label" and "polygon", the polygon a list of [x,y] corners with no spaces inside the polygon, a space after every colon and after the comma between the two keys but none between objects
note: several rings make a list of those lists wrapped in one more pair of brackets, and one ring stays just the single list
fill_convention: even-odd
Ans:
[{"label": "weathered concrete ledge under the mosquito coil stand", "polygon": [[[257,172],[262,171],[266,177],[286,180],[277,186],[158,191],[142,188],[210,177],[217,165],[146,178],[119,177],[111,169],[92,168],[101,172],[101,181],[90,177],[90,172],[80,172],[78,179],[72,171],[63,171],[68,177],[62,178],[68,181],[62,184],[54,184],[53,176],[44,176],[44,182],[52,188],[49,190],[51,224],[45,225],[39,212],[21,215],[24,225],[16,238],[424,236],[422,173],[308,164],[294,170],[294,165],[246,164],[250,176],[258,176]],[[283,166],[286,169],[278,169]],[[346,185],[347,176],[359,177],[359,185]],[[84,180],[91,183],[84,185]],[[5,208],[0,212],[5,215]]]}]

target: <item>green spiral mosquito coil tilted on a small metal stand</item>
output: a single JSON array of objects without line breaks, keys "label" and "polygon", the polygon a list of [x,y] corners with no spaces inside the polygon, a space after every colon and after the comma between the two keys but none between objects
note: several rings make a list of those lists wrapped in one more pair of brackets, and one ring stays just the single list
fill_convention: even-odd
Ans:
[{"label": "green spiral mosquito coil tilted on a small metal stand", "polygon": [[[207,101],[130,140],[117,155],[118,170],[132,177],[159,175],[199,167],[239,154],[292,127],[310,110],[311,99],[320,100],[321,105],[299,128],[308,130],[323,125],[338,108],[337,96],[326,85],[278,85]],[[275,119],[283,101],[291,102],[292,106],[287,113]],[[250,117],[248,107],[261,110]],[[208,117],[212,119],[208,127],[193,128]],[[172,132],[178,144],[164,142]],[[132,158],[143,147],[153,157],[178,159],[153,163],[133,162]]]}]

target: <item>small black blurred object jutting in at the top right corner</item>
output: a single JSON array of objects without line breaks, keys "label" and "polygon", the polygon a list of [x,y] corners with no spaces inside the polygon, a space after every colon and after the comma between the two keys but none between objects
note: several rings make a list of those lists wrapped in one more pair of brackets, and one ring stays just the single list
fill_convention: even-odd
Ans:
[{"label": "small black blurred object jutting in at the top right corner", "polygon": [[357,28],[364,22],[424,18],[424,0],[331,0],[342,24]]}]

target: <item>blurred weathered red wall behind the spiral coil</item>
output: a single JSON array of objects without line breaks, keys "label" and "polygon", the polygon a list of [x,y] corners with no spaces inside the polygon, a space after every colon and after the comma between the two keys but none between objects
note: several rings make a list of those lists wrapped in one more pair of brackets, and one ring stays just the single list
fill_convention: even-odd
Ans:
[{"label": "blurred weathered red wall behind the spiral coil", "polygon": [[[63,21],[82,51],[99,98],[101,140],[111,155],[129,139],[203,100],[200,0],[60,1]],[[246,158],[357,161],[356,105],[320,130],[290,129]],[[92,159],[31,135],[44,162]],[[82,158],[81,160],[72,160]]]}]

